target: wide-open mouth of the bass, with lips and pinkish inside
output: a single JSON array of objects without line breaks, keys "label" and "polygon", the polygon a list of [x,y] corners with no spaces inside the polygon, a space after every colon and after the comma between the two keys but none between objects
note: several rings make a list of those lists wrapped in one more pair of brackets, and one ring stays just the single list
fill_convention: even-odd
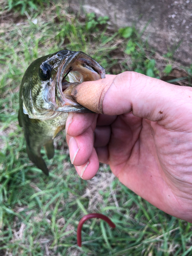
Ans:
[{"label": "wide-open mouth of the bass, with lips and pinkish inside", "polygon": [[74,52],[60,61],[56,76],[55,100],[58,112],[91,112],[76,102],[72,89],[82,82],[105,78],[105,70],[97,61],[83,52]]}]

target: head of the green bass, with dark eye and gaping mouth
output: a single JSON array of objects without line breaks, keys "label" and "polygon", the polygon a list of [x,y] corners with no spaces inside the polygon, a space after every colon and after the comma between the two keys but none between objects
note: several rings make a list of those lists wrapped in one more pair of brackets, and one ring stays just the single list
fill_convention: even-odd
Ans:
[{"label": "head of the green bass, with dark eye and gaping mouth", "polygon": [[91,112],[71,96],[76,84],[105,77],[105,70],[83,52],[62,50],[36,59],[26,70],[20,87],[24,114],[48,120],[62,112]]}]

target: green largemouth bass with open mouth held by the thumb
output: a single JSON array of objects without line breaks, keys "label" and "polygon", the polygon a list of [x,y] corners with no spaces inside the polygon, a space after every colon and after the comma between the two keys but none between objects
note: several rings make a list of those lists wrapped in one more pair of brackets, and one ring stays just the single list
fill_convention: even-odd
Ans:
[{"label": "green largemouth bass with open mouth held by the thumb", "polygon": [[71,97],[72,88],[83,81],[105,77],[105,70],[83,52],[63,50],[31,63],[19,92],[19,125],[23,126],[29,159],[49,175],[41,156],[45,147],[54,156],[53,139],[65,129],[68,112],[90,112]]}]

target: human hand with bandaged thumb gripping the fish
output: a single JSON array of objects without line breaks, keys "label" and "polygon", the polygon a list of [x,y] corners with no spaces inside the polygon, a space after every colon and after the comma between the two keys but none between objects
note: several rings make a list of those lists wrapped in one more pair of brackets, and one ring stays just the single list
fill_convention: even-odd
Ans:
[{"label": "human hand with bandaged thumb gripping the fish", "polygon": [[104,113],[69,114],[67,141],[81,178],[94,177],[99,161],[109,164],[136,194],[192,222],[192,89],[124,72],[76,91],[79,103]]}]

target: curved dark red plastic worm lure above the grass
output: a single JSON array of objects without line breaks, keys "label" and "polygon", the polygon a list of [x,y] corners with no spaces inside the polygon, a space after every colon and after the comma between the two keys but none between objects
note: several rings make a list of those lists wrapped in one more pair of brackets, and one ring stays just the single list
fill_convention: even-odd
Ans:
[{"label": "curved dark red plastic worm lure above the grass", "polygon": [[81,247],[81,229],[84,222],[86,222],[89,219],[92,218],[98,218],[106,221],[110,227],[115,228],[115,224],[105,215],[103,214],[87,214],[86,216],[82,217],[82,219],[79,221],[78,227],[77,227],[77,244],[79,247]]}]

